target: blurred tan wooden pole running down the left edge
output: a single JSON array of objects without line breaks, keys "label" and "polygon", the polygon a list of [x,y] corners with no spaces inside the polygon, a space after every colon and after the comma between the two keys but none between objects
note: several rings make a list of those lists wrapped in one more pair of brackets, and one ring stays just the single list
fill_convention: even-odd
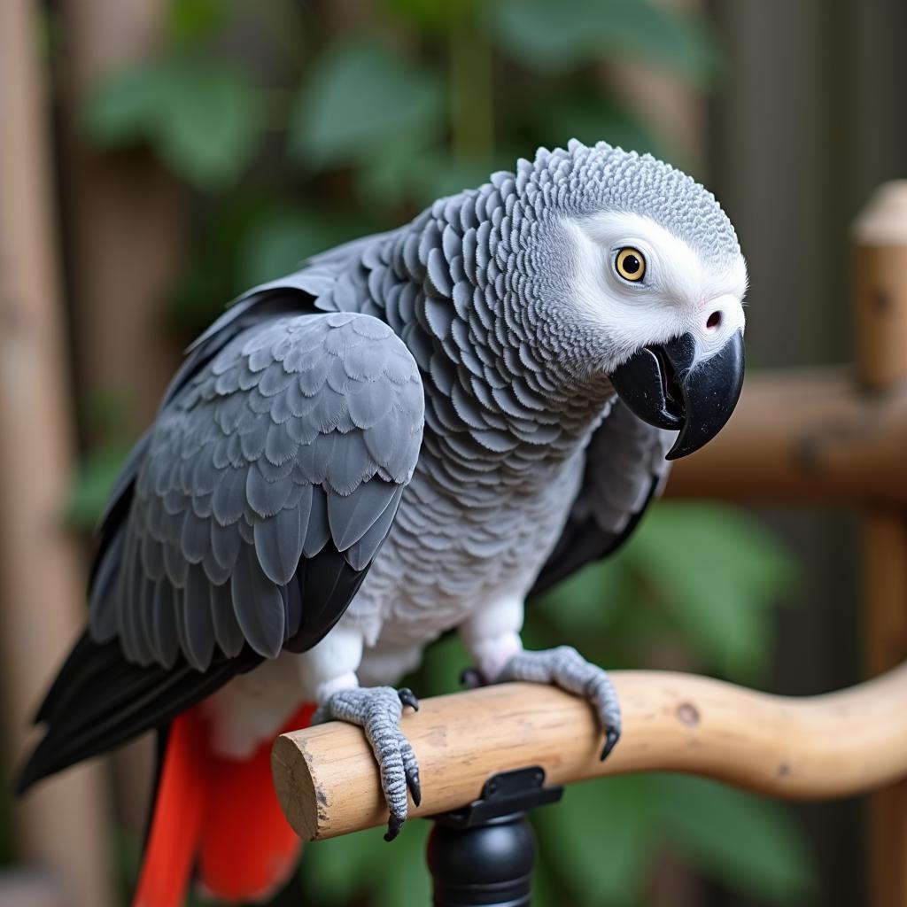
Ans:
[{"label": "blurred tan wooden pole running down the left edge", "polygon": [[[83,577],[61,524],[71,467],[37,5],[0,3],[0,690],[8,756],[83,621]],[[20,856],[71,902],[112,903],[98,766],[15,807]]]}]

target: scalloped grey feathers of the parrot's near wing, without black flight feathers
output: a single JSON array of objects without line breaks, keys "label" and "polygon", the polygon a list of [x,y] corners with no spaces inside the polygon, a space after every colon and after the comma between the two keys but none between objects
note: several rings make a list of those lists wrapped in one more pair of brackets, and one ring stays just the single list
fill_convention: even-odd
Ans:
[{"label": "scalloped grey feathers of the parrot's near wing, without black flight feathers", "polygon": [[239,332],[143,441],[129,520],[93,584],[95,637],[119,636],[140,664],[181,653],[204,670],[215,646],[243,642],[276,656],[299,624],[285,588],[300,559],[328,542],[355,571],[375,557],[423,414],[412,356],[373,317]]}]

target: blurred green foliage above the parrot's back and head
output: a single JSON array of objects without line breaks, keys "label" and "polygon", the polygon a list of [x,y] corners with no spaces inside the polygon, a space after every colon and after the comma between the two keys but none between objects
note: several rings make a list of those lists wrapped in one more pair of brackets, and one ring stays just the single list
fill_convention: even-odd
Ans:
[{"label": "blurred green foliage above the parrot's back and head", "polygon": [[172,300],[187,334],[250,278],[394,226],[540,144],[664,154],[602,64],[707,84],[719,60],[702,16],[644,0],[385,0],[337,34],[324,18],[290,0],[171,0],[161,53],[84,107],[98,147],[148,145],[202,193],[199,249]]}]

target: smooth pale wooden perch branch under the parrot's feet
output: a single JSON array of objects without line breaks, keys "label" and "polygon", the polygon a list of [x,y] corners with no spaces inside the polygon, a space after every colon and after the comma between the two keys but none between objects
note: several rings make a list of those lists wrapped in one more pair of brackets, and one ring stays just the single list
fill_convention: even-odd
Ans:
[{"label": "smooth pale wooden perch branch under the parrot's feet", "polygon": [[[823,799],[907,775],[907,664],[826,696],[769,696],[709,678],[612,674],[624,733],[605,763],[590,707],[532,684],[425,699],[403,729],[430,815],[478,797],[491,775],[542,766],[551,784],[639,771],[680,771],[763,794]],[[385,824],[375,759],[357,727],[331,722],[278,737],[274,781],[305,840]]]}]

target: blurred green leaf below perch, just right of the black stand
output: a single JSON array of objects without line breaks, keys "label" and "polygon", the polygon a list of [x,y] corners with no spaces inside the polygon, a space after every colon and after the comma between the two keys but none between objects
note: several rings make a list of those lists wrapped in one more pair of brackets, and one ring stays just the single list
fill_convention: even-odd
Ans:
[{"label": "blurred green leaf below perch, just right of the black stand", "polygon": [[564,902],[639,898],[657,844],[656,808],[651,779],[628,775],[570,787],[560,804],[534,814],[541,852],[574,887]]}]

